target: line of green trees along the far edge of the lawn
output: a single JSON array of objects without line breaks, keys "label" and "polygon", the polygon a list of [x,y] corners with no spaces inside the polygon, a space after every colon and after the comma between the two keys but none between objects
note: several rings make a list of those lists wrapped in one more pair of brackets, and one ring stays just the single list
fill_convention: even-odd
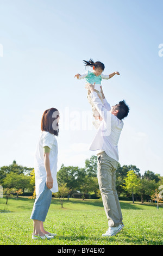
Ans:
[{"label": "line of green trees along the far edge of the lawn", "polygon": [[[97,156],[92,155],[90,159],[85,160],[85,167],[78,166],[64,166],[61,165],[57,180],[59,185],[59,192],[55,196],[62,199],[66,196],[85,198],[99,198],[101,193],[99,191],[97,180]],[[14,160],[9,166],[0,168],[0,185],[3,187],[3,193],[8,197],[11,194],[32,193],[35,188],[34,168],[20,166]],[[136,200],[156,200],[158,202],[158,194],[160,201],[162,195],[159,189],[163,188],[163,177],[147,170],[143,175],[140,174],[140,169],[134,165],[123,165],[118,163],[116,171],[116,190],[120,199]]]}]

